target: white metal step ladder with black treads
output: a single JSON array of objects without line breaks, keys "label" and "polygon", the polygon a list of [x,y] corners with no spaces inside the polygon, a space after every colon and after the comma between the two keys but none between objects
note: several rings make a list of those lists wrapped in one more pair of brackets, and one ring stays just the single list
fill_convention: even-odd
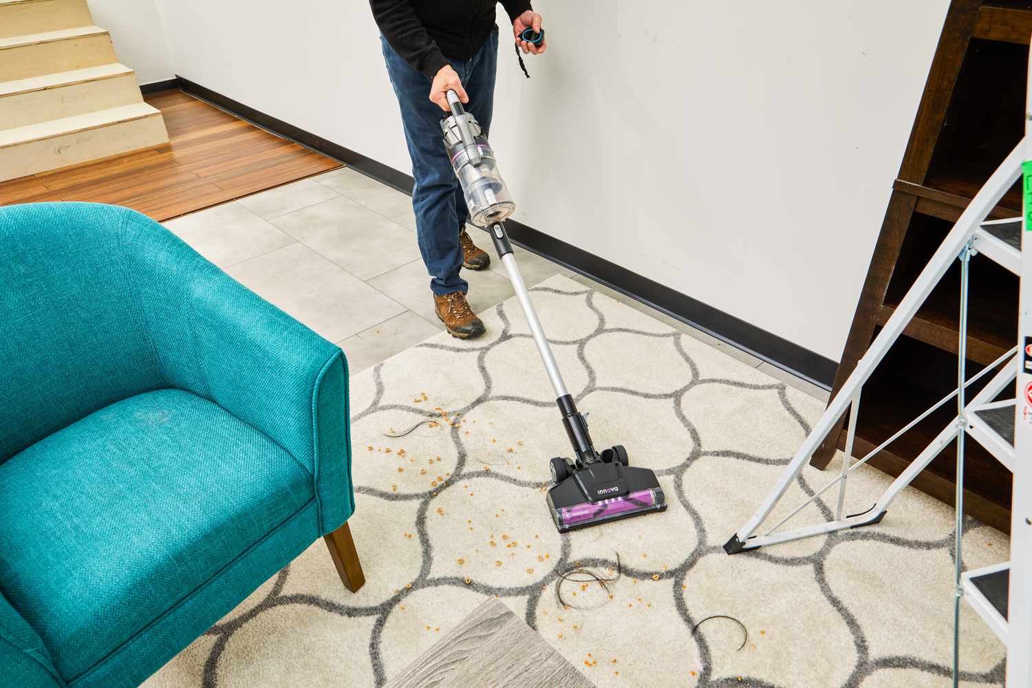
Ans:
[{"label": "white metal step ladder with black treads", "polygon": [[[1029,73],[1032,76],[1032,65]],[[724,550],[729,554],[737,554],[779,543],[878,523],[900,491],[909,485],[947,445],[956,441],[955,686],[958,685],[959,677],[959,622],[962,598],[968,601],[1006,644],[1007,688],[1032,686],[1032,280],[1021,280],[1019,346],[976,375],[967,378],[965,369],[971,259],[980,255],[1019,277],[1032,273],[1032,240],[1023,240],[1023,236],[1032,237],[1032,85],[1029,89],[1027,112],[1025,138],[971,200],[938,251],[917,276],[913,287],[871,342],[867,353],[857,363],[856,369],[829,402],[828,408],[785,467],[776,485],[752,517],[724,545]],[[1023,175],[1023,171],[1024,217],[986,222],[990,211]],[[867,456],[853,462],[852,448],[863,387],[955,260],[961,261],[957,390],[874,448]],[[994,371],[996,374],[968,402],[967,388]],[[1013,396],[1007,390],[1013,390]],[[1008,398],[997,400],[1000,395]],[[874,506],[861,514],[844,516],[849,473],[955,398],[957,416],[889,486]],[[796,481],[838,419],[846,412],[849,412],[849,424],[842,467],[838,476],[815,491],[785,518],[772,526],[766,526],[765,521],[785,491]],[[1010,561],[964,572],[961,563],[961,542],[964,525],[964,446],[968,436],[985,447],[1000,463],[1010,469],[1013,473],[1013,496]],[[807,504],[836,485],[838,498],[834,520],[793,530],[779,530]]]}]

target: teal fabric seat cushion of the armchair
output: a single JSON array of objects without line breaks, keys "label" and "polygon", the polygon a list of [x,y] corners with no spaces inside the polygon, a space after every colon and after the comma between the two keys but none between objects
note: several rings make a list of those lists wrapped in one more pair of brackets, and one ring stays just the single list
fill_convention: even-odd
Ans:
[{"label": "teal fabric seat cushion of the armchair", "polygon": [[72,681],[313,498],[214,402],[133,396],[0,464],[0,590]]}]

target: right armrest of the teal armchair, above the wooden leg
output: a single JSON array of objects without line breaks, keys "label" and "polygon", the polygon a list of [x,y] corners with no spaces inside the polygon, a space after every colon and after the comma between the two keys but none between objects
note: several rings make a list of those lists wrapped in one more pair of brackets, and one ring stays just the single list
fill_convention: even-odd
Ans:
[{"label": "right armrest of the teal armchair, above the wooden leg", "polygon": [[[354,511],[347,361],[338,347],[133,212],[137,307],[169,387],[212,399],[313,476],[320,527]],[[320,533],[322,534],[322,533]]]}]

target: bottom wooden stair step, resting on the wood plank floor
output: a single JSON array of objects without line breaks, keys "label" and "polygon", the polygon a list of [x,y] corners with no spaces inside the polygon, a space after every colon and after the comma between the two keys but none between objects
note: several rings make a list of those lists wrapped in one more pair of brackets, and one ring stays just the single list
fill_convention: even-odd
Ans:
[{"label": "bottom wooden stair step, resting on the wood plank floor", "polygon": [[147,103],[0,131],[0,181],[160,145],[161,112]]}]

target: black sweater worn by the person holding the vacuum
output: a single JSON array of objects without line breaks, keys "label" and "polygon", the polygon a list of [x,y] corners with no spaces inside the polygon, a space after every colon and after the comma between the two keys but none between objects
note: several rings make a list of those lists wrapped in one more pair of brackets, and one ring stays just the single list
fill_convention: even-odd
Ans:
[{"label": "black sweater worn by the person holding the vacuum", "polygon": [[[530,0],[498,0],[510,20]],[[410,65],[433,78],[445,58],[469,60],[494,28],[496,0],[369,0],[373,18],[391,47]]]}]

